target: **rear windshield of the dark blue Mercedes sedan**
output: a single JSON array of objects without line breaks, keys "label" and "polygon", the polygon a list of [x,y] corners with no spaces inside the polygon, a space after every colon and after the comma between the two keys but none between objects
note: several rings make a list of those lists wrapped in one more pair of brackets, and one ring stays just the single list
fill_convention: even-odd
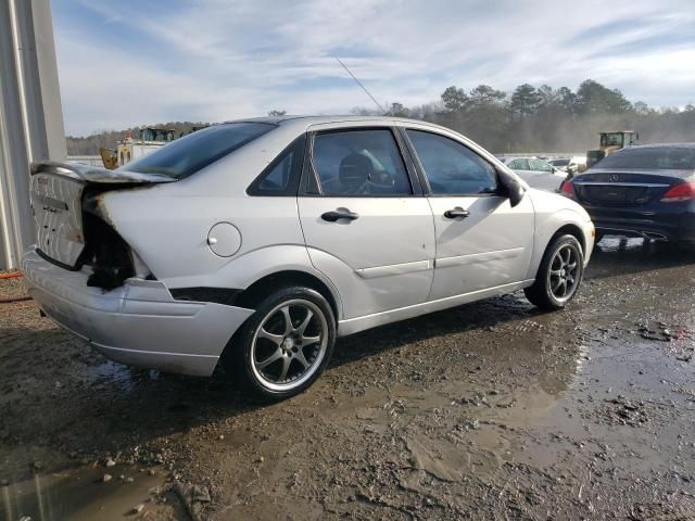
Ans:
[{"label": "rear windshield of the dark blue Mercedes sedan", "polygon": [[695,169],[695,147],[623,149],[598,163],[595,168]]}]

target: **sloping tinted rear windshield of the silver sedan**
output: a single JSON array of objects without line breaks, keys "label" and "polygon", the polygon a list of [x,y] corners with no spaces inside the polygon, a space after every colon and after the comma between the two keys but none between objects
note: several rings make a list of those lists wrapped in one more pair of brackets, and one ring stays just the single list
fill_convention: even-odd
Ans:
[{"label": "sloping tinted rear windshield of the silver sedan", "polygon": [[[182,179],[273,130],[268,123],[225,123],[198,130],[121,168]],[[119,168],[119,169],[121,169]]]}]

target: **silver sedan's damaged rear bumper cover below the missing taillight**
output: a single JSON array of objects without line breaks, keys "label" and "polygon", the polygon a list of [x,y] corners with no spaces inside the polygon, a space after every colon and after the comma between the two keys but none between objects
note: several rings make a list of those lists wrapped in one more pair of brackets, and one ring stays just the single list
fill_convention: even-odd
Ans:
[{"label": "silver sedan's damaged rear bumper cover below the missing taillight", "polygon": [[160,281],[128,279],[104,292],[87,287],[85,270],[68,271],[34,249],[22,268],[29,295],[60,326],[106,357],[166,372],[208,376],[253,309],[175,301]]}]

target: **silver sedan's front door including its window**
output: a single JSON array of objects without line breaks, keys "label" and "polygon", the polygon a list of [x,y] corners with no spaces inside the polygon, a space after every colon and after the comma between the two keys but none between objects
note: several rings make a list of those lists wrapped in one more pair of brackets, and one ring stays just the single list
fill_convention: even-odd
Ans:
[{"label": "silver sedan's front door including its window", "polygon": [[430,300],[522,280],[533,250],[531,198],[511,207],[494,166],[454,136],[408,128],[434,215]]}]

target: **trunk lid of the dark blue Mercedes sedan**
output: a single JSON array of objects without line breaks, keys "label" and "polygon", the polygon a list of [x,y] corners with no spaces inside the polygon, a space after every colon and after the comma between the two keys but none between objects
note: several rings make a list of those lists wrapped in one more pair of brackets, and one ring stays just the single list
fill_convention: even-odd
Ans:
[{"label": "trunk lid of the dark blue Mercedes sedan", "polygon": [[629,208],[658,201],[673,185],[683,182],[684,174],[680,170],[592,169],[576,176],[572,185],[580,203]]}]

